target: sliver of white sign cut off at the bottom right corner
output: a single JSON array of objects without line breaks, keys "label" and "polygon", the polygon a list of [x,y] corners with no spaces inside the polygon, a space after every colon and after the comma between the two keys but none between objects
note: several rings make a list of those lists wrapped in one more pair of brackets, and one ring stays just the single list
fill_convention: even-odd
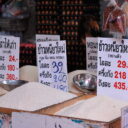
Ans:
[{"label": "sliver of white sign cut off at the bottom right corner", "polygon": [[128,106],[121,109],[121,128],[128,128]]}]

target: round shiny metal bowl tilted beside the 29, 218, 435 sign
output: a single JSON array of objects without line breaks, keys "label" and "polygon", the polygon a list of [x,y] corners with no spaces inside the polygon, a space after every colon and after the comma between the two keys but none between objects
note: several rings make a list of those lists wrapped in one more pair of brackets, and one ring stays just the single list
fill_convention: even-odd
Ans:
[{"label": "round shiny metal bowl tilted beside the 29, 218, 435 sign", "polygon": [[96,91],[97,76],[90,73],[77,74],[73,77],[73,83],[82,92]]}]

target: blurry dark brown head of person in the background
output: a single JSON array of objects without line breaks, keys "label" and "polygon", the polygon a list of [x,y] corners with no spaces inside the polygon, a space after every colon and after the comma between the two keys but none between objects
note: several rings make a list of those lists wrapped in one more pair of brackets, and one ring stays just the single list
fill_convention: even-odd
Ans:
[{"label": "blurry dark brown head of person in the background", "polygon": [[86,45],[86,37],[97,37],[100,35],[100,28],[96,18],[92,15],[83,15],[78,25],[78,40]]}]

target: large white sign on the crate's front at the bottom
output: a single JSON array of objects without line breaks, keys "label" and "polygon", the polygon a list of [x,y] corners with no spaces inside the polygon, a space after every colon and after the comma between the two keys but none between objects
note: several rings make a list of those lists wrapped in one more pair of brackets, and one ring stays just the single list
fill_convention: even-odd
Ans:
[{"label": "large white sign on the crate's front at the bottom", "polygon": [[12,128],[84,128],[71,119],[31,113],[12,113]]}]

